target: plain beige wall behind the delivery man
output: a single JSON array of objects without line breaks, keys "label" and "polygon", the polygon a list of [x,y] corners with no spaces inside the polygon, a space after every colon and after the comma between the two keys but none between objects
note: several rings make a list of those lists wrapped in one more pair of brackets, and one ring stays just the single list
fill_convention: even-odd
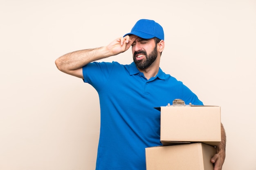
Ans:
[{"label": "plain beige wall behind the delivery man", "polygon": [[[164,27],[161,68],[221,106],[223,170],[256,169],[255,0],[0,0],[0,170],[95,168],[97,93],[54,61],[141,18]],[[130,49],[113,60],[132,62]]]}]

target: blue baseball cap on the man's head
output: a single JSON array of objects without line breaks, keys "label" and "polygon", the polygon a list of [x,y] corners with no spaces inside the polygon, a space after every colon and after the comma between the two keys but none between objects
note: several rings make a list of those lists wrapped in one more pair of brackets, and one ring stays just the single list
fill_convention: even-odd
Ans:
[{"label": "blue baseball cap on the man's head", "polygon": [[[137,21],[136,24],[132,27],[131,32],[127,33],[126,35],[130,34],[137,35],[138,37],[144,39],[151,39],[157,37],[161,40],[164,40],[163,27],[154,20],[141,19]],[[124,37],[126,35],[124,35]]]}]

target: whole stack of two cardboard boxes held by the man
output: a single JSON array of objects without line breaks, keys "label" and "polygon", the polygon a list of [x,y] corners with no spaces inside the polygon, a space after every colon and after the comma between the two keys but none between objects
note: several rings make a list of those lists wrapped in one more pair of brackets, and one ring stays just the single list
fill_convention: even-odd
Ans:
[{"label": "whole stack of two cardboard boxes held by the man", "polygon": [[220,107],[170,105],[161,111],[163,146],[146,148],[147,170],[213,170],[221,141]]}]

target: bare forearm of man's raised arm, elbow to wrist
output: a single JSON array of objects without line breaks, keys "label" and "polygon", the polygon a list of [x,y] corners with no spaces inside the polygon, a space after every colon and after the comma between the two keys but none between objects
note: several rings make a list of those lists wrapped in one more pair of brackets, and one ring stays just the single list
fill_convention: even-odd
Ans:
[{"label": "bare forearm of man's raised arm, elbow to wrist", "polygon": [[78,50],[59,57],[56,59],[55,64],[59,70],[68,73],[69,71],[82,68],[92,61],[109,56],[110,54],[108,50],[106,50],[106,47]]}]

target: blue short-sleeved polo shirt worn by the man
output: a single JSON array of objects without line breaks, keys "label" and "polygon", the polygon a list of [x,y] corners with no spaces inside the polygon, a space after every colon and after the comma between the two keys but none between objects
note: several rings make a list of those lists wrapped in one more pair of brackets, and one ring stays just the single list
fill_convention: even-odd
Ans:
[{"label": "blue short-sleeved polo shirt worn by the man", "polygon": [[146,170],[145,148],[160,142],[160,111],[154,107],[182,99],[202,105],[191,90],[160,68],[147,80],[134,62],[93,62],[84,82],[99,94],[101,127],[96,170]]}]

